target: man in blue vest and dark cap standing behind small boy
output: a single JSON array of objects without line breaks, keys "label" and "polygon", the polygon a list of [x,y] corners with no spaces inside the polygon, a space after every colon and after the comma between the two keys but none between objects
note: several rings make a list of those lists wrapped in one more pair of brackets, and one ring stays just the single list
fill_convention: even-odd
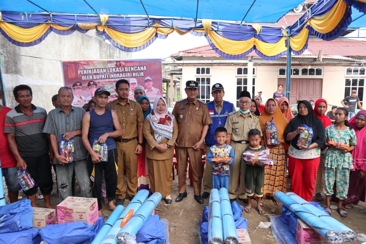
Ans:
[{"label": "man in blue vest and dark cap standing behind small boy", "polygon": [[[212,119],[212,124],[209,124],[207,135],[205,137],[206,152],[210,150],[210,147],[217,144],[215,140],[215,130],[217,127],[224,126],[229,113],[235,111],[235,106],[231,102],[224,101],[224,87],[220,83],[216,83],[212,86],[211,95],[213,101],[207,103],[207,107]],[[208,198],[212,189],[212,164],[206,162],[205,171],[203,171],[203,193],[202,198]]]}]

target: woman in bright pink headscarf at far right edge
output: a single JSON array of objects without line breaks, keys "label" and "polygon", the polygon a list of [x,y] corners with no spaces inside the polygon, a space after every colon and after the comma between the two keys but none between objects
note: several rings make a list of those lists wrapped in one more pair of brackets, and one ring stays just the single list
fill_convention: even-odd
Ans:
[{"label": "woman in bright pink headscarf at far right edge", "polygon": [[[351,151],[353,158],[353,169],[350,171],[350,185],[348,187],[347,198],[343,200],[346,209],[353,209],[359,201],[366,200],[366,110],[360,110],[356,116],[350,119],[350,126],[356,132],[357,145]],[[333,199],[336,192],[333,194]]]}]

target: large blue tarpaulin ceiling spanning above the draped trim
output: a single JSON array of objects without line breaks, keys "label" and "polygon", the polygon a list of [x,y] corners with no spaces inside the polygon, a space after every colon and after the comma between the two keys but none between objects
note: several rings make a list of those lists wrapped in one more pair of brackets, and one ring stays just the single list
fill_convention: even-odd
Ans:
[{"label": "large blue tarpaulin ceiling spanning above the draped trim", "polygon": [[0,11],[149,15],[275,23],[303,0],[0,0]]}]

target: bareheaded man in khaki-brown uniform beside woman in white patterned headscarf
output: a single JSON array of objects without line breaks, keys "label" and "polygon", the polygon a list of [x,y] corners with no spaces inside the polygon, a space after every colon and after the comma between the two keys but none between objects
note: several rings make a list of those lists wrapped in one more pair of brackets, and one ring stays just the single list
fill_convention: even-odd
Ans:
[{"label": "bareheaded man in khaki-brown uniform beside woman in white patterned headscarf", "polygon": [[115,110],[123,135],[115,138],[118,152],[118,182],[116,205],[123,205],[126,198],[126,186],[124,184],[124,170],[127,177],[127,194],[130,200],[137,193],[137,160],[142,152],[143,142],[143,113],[140,104],[128,99],[130,83],[121,79],[116,82],[118,98],[107,104],[107,109]]}]

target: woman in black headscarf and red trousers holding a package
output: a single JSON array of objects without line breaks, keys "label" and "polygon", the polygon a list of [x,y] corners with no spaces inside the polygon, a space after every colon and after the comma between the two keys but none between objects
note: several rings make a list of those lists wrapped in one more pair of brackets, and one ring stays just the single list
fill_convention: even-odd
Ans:
[{"label": "woman in black headscarf and red trousers holding a package", "polygon": [[[298,102],[298,115],[290,120],[285,129],[288,149],[288,173],[291,177],[291,191],[311,201],[315,189],[315,180],[320,162],[320,149],[324,148],[325,128],[315,115],[309,101]],[[313,129],[309,148],[297,146],[300,132],[305,131],[302,125]]]}]

